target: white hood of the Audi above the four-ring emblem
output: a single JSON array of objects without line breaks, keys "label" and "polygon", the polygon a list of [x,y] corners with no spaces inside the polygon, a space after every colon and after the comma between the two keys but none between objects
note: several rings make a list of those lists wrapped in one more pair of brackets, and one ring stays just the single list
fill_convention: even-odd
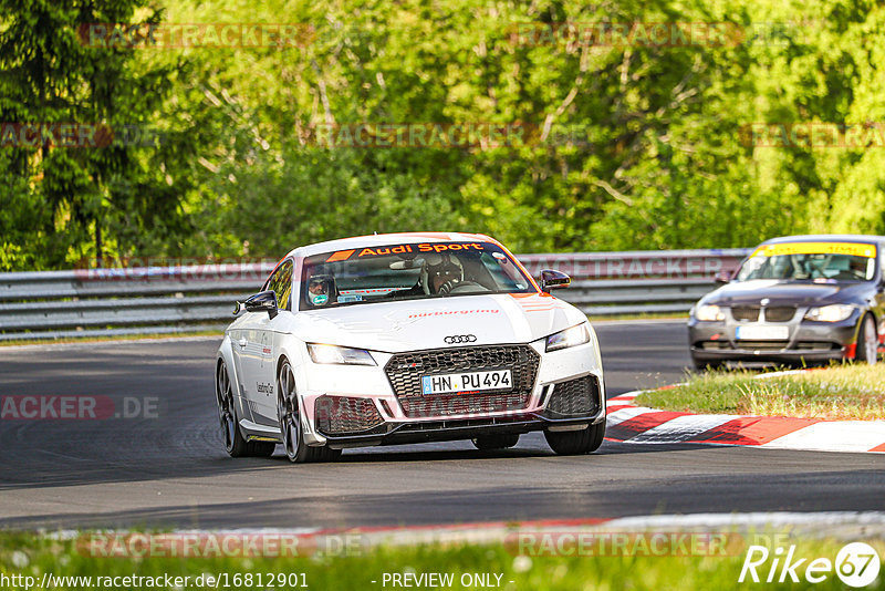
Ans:
[{"label": "white hood of the Audi above the four-ring emblem", "polygon": [[388,353],[464,346],[451,335],[473,335],[470,345],[524,343],[574,326],[586,317],[548,294],[508,293],[377,302],[295,314],[292,332],[306,342]]}]

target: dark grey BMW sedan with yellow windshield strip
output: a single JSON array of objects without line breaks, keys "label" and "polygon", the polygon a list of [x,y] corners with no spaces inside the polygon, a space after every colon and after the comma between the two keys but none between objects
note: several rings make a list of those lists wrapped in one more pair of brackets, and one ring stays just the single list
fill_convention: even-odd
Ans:
[{"label": "dark grey BMW sedan with yellow windshield strip", "polygon": [[788,236],[760,245],[691,308],[695,366],[726,361],[875,363],[885,343],[882,236]]}]

